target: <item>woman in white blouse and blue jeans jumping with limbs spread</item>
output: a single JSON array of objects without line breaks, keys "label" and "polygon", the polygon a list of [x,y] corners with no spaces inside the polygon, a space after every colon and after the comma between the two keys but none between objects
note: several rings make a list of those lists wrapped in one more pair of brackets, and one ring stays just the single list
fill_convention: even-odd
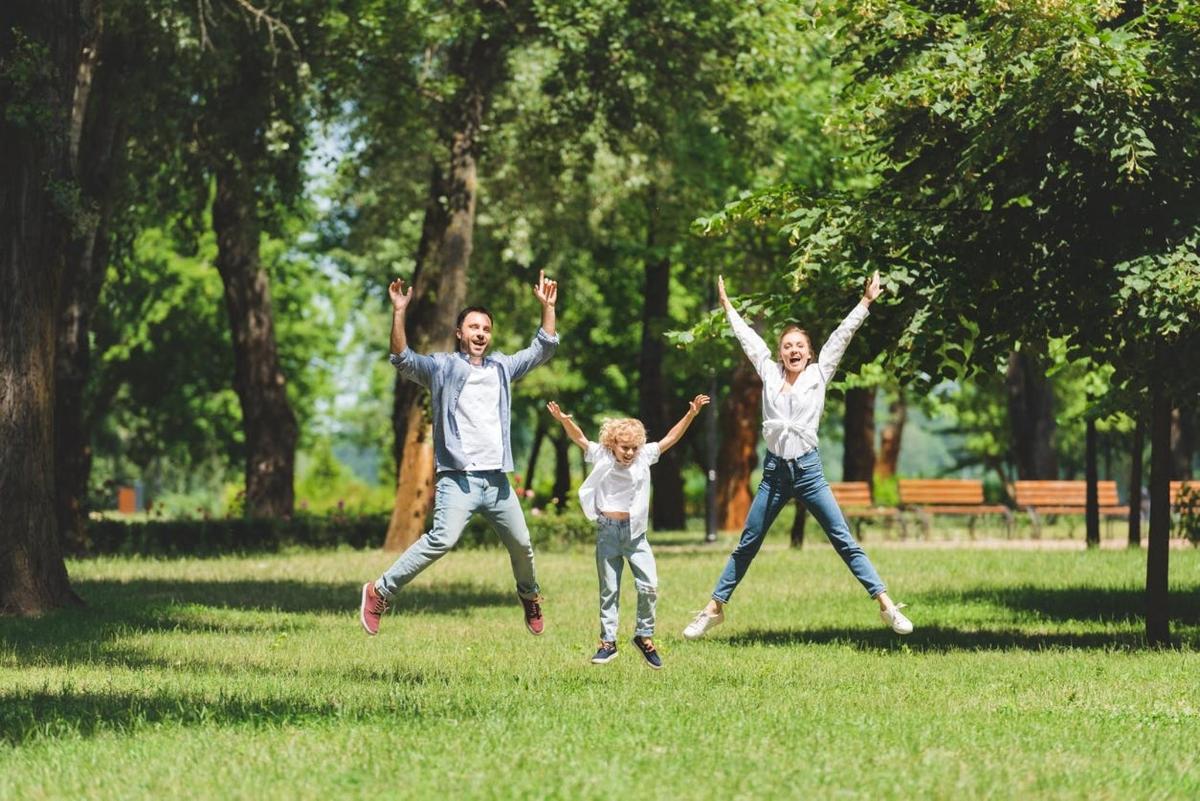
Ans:
[{"label": "woman in white blouse and blue jeans jumping with limbs spread", "polygon": [[850,338],[866,319],[871,301],[880,296],[878,271],[868,282],[863,300],[829,336],[816,361],[808,332],[797,325],[784,329],[779,337],[779,361],[772,359],[767,343],[730,303],[724,278],[716,279],[716,290],[733,333],[762,379],[762,433],[767,440],[767,459],[742,540],[730,554],[708,606],[688,624],[683,636],[697,639],[725,622],[725,604],[758,553],[770,524],[792,499],[799,499],[812,512],[838,555],[868,595],[878,602],[883,622],[898,634],[911,633],[912,621],[900,612],[904,604],[896,606],[888,597],[871,560],[850,532],[846,518],[826,482],[817,453],[817,424],[824,410],[826,386],[836,372]]}]

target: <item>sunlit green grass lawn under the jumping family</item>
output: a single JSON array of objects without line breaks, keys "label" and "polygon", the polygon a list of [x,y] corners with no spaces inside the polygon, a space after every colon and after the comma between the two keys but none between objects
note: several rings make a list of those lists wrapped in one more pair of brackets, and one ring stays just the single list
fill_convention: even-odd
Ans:
[{"label": "sunlit green grass lawn under the jumping family", "polygon": [[[776,535],[778,542],[779,535]],[[679,636],[731,541],[659,548],[666,667],[592,666],[590,552],[539,554],[526,633],[499,550],[452,553],[367,638],[390,558],[73,562],[84,609],[0,620],[0,799],[1195,799],[1200,553],[868,541],[917,631],[827,546],[768,544],[710,639]]]}]

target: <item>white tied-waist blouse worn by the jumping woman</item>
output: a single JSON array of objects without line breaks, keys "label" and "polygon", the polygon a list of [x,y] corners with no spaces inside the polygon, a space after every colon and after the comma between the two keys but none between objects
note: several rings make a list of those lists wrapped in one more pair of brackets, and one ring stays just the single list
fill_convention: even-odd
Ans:
[{"label": "white tied-waist blouse worn by the jumping woman", "polygon": [[815,362],[809,362],[794,384],[784,380],[784,366],[770,348],[731,305],[726,312],[742,349],[762,379],[762,435],[775,456],[794,459],[817,446],[817,426],[824,411],[826,385],[838,371],[846,347],[869,312],[859,303],[846,315]]}]

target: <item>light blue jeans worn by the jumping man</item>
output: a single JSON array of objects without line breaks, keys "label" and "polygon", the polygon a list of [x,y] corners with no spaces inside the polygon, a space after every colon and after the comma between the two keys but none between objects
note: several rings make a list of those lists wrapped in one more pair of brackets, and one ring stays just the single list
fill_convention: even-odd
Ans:
[{"label": "light blue jeans worn by the jumping man", "polygon": [[409,546],[383,578],[376,582],[379,595],[385,600],[391,598],[422,570],[454,548],[475,512],[487,518],[509,549],[517,595],[522,598],[538,597],[529,526],[526,525],[524,512],[509,484],[509,477],[500,470],[454,470],[438,474],[433,495],[433,528]]}]

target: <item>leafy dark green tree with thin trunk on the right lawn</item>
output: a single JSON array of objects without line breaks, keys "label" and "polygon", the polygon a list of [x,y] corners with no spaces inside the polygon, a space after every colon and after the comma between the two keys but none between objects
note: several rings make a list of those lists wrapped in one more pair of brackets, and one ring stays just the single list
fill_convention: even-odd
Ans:
[{"label": "leafy dark green tree with thin trunk on the right lawn", "polygon": [[1200,336],[1200,6],[949,11],[842,6],[857,80],[835,122],[869,181],[838,198],[785,188],[740,211],[792,216],[798,282],[887,270],[905,320],[887,363],[913,380],[1061,337],[1072,359],[1111,363],[1127,398],[1150,390],[1147,637],[1165,642],[1162,444],[1169,398],[1195,391],[1183,366]]}]

